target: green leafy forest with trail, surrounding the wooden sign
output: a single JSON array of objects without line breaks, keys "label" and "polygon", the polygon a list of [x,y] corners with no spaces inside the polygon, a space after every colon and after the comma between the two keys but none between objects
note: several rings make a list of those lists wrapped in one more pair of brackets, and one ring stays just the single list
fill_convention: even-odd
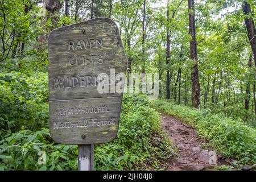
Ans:
[{"label": "green leafy forest with trail, surrounding the wooden sign", "polygon": [[118,26],[126,74],[157,74],[159,92],[123,94],[96,170],[255,170],[255,14],[255,0],[0,0],[0,170],[77,170],[77,145],[49,134],[47,40],[100,17]]}]

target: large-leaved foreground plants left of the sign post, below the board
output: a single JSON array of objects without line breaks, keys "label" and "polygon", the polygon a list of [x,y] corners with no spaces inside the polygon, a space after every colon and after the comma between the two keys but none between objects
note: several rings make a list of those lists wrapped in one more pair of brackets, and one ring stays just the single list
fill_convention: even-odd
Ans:
[{"label": "large-leaved foreground plants left of the sign post, below the board", "polygon": [[[0,142],[2,170],[72,170],[77,168],[77,146],[56,144],[48,129],[20,130]],[[39,152],[46,152],[46,164],[39,164]]]}]

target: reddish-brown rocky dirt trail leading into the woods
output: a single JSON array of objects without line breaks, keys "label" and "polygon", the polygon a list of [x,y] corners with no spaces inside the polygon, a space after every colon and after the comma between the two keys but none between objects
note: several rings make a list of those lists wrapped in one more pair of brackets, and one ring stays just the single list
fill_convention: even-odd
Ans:
[{"label": "reddish-brown rocky dirt trail leading into the woods", "polygon": [[174,142],[178,152],[176,158],[168,160],[168,171],[203,171],[214,170],[214,167],[222,164],[229,165],[221,156],[217,156],[217,165],[210,165],[209,158],[213,159],[212,154],[208,154],[211,148],[202,148],[206,140],[200,139],[195,129],[181,122],[179,119],[170,115],[162,114],[162,127]]}]

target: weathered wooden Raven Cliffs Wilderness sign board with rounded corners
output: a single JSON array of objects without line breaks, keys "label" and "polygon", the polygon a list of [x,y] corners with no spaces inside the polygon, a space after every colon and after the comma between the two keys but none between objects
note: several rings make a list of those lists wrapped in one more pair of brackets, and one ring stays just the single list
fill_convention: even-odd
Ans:
[{"label": "weathered wooden Raven Cliffs Wilderness sign board with rounded corners", "polygon": [[[56,28],[48,38],[48,59],[53,140],[63,144],[111,142],[118,131],[122,92],[110,88],[117,84],[115,76],[126,71],[117,25],[108,18],[96,18]],[[110,77],[106,87],[110,92],[98,90],[102,73]]]}]

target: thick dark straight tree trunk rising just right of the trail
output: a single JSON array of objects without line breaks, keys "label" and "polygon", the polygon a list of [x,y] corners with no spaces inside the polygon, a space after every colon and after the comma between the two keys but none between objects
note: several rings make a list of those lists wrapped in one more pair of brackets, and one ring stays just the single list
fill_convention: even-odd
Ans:
[{"label": "thick dark straight tree trunk rising just right of the trail", "polygon": [[197,43],[196,43],[196,25],[195,25],[195,7],[194,0],[188,0],[189,10],[189,34],[191,35],[190,54],[193,60],[193,68],[191,73],[192,81],[192,106],[200,109],[200,83],[199,71],[197,65]]}]

